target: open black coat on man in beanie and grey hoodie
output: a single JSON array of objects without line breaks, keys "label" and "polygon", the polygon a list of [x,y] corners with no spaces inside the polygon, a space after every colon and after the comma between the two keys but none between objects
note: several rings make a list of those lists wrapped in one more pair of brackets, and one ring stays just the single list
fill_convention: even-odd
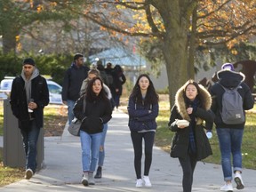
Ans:
[{"label": "open black coat on man in beanie and grey hoodie", "polygon": [[[25,82],[21,76],[17,76],[12,82],[11,108],[12,114],[19,119],[19,128],[29,128],[28,102],[26,97]],[[43,76],[36,76],[31,81],[31,98],[36,102],[32,116],[36,119],[36,126],[43,127],[44,106],[49,103],[49,91]]]}]

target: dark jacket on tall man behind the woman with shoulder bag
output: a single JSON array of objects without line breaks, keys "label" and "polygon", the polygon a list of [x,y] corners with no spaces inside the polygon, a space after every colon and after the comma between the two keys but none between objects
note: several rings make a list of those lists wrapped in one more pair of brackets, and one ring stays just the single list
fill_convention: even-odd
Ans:
[{"label": "dark jacket on tall man behind the woman with shoulder bag", "polygon": [[77,68],[75,63],[66,71],[62,84],[62,100],[78,100],[81,85],[88,76],[89,68],[82,66]]}]

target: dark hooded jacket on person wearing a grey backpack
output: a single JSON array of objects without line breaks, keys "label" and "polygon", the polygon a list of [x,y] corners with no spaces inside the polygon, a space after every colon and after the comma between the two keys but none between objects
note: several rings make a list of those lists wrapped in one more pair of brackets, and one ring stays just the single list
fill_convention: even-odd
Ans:
[{"label": "dark hooded jacket on person wearing a grey backpack", "polygon": [[[217,73],[217,78],[219,79],[219,84],[213,84],[210,90],[212,95],[211,109],[215,114],[214,123],[216,124],[216,128],[244,129],[245,122],[244,124],[224,124],[220,115],[220,110],[222,108],[222,95],[225,92],[221,85],[226,88],[236,88],[239,85],[237,92],[239,92],[243,98],[244,110],[253,108],[254,100],[252,97],[252,92],[250,91],[248,85],[244,83],[244,74],[241,72],[222,69]],[[211,126],[213,126],[213,124]]]}]

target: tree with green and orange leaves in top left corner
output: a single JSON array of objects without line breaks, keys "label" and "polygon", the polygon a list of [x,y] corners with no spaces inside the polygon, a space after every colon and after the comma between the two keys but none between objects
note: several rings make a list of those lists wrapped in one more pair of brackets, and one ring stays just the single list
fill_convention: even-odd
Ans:
[{"label": "tree with green and orange leaves in top left corner", "polygon": [[16,52],[16,48],[20,45],[20,33],[28,26],[33,27],[35,22],[66,21],[74,16],[68,12],[68,9],[62,9],[60,12],[54,2],[44,4],[43,0],[0,1],[0,36],[3,39],[3,52]]}]

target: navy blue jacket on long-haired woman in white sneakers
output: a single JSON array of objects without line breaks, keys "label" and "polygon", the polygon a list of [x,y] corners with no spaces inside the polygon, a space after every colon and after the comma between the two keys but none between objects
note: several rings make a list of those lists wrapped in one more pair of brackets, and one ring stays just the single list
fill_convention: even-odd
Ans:
[{"label": "navy blue jacket on long-haired woman in white sneakers", "polygon": [[[130,98],[128,102],[129,128],[132,132],[141,130],[156,130],[156,117],[158,116],[158,103],[154,105],[143,105],[135,103]],[[149,113],[149,110],[151,113]]]}]

